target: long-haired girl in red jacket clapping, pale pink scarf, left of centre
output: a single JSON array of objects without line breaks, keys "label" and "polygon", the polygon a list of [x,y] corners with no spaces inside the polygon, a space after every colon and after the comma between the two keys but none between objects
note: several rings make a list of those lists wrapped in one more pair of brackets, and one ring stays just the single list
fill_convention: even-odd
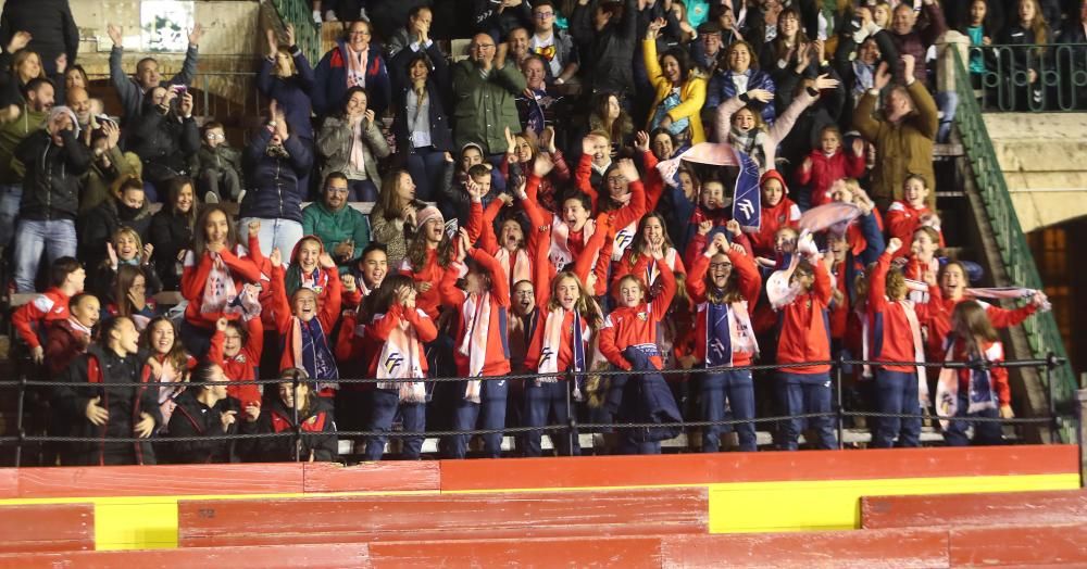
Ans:
[{"label": "long-haired girl in red jacket clapping, pale pink scarf, left of centre", "polygon": [[260,280],[257,264],[238,246],[226,211],[217,204],[207,206],[197,219],[192,250],[186,253],[182,271],[182,295],[188,301],[182,340],[189,354],[199,358],[208,353],[220,318],[235,319],[259,309],[257,299],[248,300],[242,286]]}]

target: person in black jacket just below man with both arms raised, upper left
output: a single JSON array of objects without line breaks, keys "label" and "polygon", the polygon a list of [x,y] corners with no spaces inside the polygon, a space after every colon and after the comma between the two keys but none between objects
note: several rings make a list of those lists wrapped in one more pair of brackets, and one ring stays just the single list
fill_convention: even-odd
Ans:
[{"label": "person in black jacket just below man with both arms raised, upper left", "polygon": [[182,88],[155,87],[143,106],[128,132],[128,149],[143,162],[143,180],[151,182],[150,189],[165,190],[170,178],[188,175],[189,163],[200,150],[192,96]]}]

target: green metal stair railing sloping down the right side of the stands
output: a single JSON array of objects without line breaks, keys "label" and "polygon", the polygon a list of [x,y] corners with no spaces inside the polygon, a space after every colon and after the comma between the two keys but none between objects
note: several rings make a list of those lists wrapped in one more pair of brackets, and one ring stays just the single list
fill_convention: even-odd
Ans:
[{"label": "green metal stair railing sloping down the right side of the stands", "polygon": [[[971,85],[966,65],[957,50],[955,90],[959,93],[959,109],[955,112],[955,123],[962,136],[963,150],[974,173],[974,181],[980,194],[985,211],[992,227],[1000,258],[1004,271],[1011,282],[1033,289],[1041,289],[1041,277],[1034,263],[1034,255],[1026,242],[1026,236],[1019,223],[1019,216],[1012,204],[1011,194],[1004,181],[1000,164],[997,162],[992,141],[989,139],[982,106]],[[1037,314],[1023,324],[1035,357],[1046,358],[1050,354],[1065,357],[1064,343],[1061,340],[1057,320],[1052,313]],[[1039,369],[1039,377],[1047,377]],[[1075,400],[1078,388],[1072,366],[1067,363],[1053,369],[1051,384],[1047,385],[1050,393],[1050,405],[1059,409],[1069,409]]]}]

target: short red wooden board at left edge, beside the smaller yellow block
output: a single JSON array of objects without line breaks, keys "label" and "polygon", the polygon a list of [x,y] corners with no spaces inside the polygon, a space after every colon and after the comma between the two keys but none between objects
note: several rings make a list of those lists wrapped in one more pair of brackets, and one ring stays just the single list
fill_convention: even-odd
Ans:
[{"label": "short red wooden board at left edge, beside the smaller yellow block", "polygon": [[0,506],[0,553],[95,548],[93,504]]}]

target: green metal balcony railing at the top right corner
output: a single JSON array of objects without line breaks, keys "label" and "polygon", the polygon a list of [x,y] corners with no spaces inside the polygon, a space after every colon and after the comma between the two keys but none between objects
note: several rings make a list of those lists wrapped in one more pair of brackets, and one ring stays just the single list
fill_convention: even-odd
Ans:
[{"label": "green metal balcony railing at the top right corner", "polygon": [[972,46],[969,68],[985,112],[1087,110],[1087,43]]}]

